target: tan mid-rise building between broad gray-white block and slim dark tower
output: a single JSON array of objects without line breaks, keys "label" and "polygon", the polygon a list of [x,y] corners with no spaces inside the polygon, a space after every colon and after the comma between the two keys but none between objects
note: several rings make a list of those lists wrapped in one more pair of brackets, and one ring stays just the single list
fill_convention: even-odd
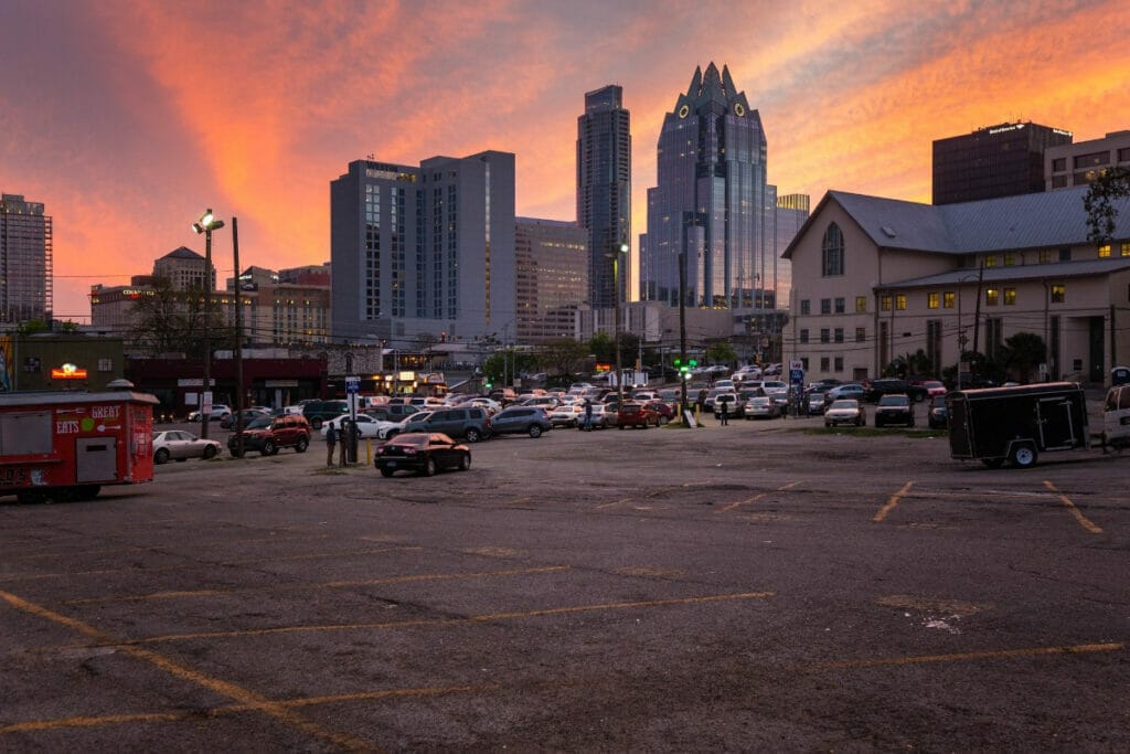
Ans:
[{"label": "tan mid-rise building between broad gray-white block and slim dark tower", "polygon": [[576,223],[515,218],[519,343],[580,336],[577,312],[589,295],[589,237]]}]

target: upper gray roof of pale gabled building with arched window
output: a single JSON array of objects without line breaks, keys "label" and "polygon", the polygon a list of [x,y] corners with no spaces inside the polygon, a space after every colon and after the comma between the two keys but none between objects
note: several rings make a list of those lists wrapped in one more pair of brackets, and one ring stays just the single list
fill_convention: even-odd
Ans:
[{"label": "upper gray roof of pale gabled building with arched window", "polygon": [[[968,254],[1086,243],[1086,193],[1087,188],[1079,187],[938,207],[828,191],[820,207],[827,201],[838,203],[878,246]],[[1114,237],[1130,239],[1130,197],[1112,205],[1118,210]],[[786,257],[792,255],[792,249],[790,244]]]}]

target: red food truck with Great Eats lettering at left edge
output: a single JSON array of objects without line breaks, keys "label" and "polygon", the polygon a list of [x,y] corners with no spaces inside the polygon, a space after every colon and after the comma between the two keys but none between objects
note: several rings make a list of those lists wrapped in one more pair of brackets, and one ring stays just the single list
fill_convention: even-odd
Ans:
[{"label": "red food truck with Great Eats lettering at left edge", "polygon": [[93,500],[105,485],[153,480],[155,396],[0,392],[0,495]]}]

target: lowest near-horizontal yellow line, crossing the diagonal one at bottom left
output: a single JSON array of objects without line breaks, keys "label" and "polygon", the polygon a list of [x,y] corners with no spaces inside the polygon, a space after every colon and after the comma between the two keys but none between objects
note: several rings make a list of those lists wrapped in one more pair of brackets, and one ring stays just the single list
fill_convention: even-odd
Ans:
[{"label": "lowest near-horizontal yellow line, crossing the diagonal one at bottom left", "polygon": [[[346,702],[372,702],[380,701],[382,699],[411,699],[445,696],[451,694],[483,694],[496,692],[501,688],[502,686],[498,684],[423,688],[384,688],[381,691],[360,691],[351,694],[286,699],[272,702],[272,704],[284,709],[295,709],[299,707],[315,707],[321,704],[342,704]],[[82,716],[60,718],[58,720],[31,720],[26,722],[14,722],[0,726],[0,736],[15,733],[54,730],[58,728],[94,728],[101,726],[127,725],[130,722],[182,722],[185,720],[199,720],[201,717],[215,718],[223,714],[243,714],[245,712],[254,712],[257,709],[257,707],[249,704],[229,704],[227,707],[214,707],[207,710],[190,710],[181,712],[137,712],[133,714]]]}]

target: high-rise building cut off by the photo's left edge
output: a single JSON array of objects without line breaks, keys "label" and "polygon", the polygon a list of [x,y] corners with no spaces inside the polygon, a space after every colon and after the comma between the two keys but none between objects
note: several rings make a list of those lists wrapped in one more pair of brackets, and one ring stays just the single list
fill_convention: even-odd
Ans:
[{"label": "high-rise building cut off by the photo's left edge", "polygon": [[51,321],[52,245],[42,202],[0,194],[0,328]]}]

